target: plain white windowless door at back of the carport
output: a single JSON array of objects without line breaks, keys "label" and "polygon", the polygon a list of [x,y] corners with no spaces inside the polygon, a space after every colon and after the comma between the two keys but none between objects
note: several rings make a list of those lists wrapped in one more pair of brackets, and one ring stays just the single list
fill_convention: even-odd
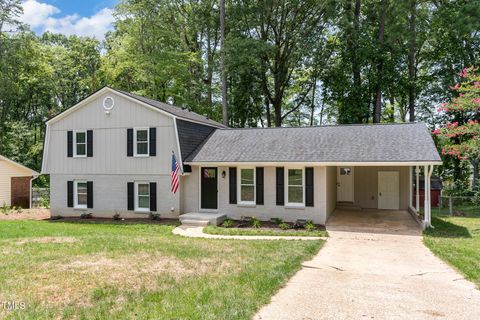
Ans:
[{"label": "plain white windowless door at back of the carport", "polygon": [[400,180],[398,171],[378,172],[378,209],[398,210]]}]

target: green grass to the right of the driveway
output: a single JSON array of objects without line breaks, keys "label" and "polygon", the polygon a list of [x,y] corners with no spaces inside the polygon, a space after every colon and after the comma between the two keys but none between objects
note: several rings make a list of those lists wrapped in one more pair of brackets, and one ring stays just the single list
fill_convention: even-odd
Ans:
[{"label": "green grass to the right of the driveway", "polygon": [[[434,212],[432,212],[434,214]],[[434,216],[424,243],[480,288],[480,210],[465,217]]]}]

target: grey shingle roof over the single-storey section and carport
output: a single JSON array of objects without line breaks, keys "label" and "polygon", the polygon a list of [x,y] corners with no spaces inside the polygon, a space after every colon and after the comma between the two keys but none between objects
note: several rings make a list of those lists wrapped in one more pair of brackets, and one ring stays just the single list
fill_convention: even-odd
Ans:
[{"label": "grey shingle roof over the single-storey section and carport", "polygon": [[219,129],[187,163],[422,162],[441,158],[423,123]]}]

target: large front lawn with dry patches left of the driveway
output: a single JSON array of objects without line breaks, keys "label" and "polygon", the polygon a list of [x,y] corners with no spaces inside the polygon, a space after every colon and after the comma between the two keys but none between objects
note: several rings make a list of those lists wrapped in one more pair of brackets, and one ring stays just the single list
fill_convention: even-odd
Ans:
[{"label": "large front lawn with dry patches left of the driveway", "polygon": [[250,319],[323,241],[172,235],[158,224],[0,222],[0,319]]}]

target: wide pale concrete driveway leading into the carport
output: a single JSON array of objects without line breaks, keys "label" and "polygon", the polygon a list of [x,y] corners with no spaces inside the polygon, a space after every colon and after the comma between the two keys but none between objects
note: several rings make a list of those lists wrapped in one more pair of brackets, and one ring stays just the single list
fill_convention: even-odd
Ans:
[{"label": "wide pale concrete driveway leading into the carport", "polygon": [[480,319],[480,291],[423,245],[407,212],[329,222],[325,246],[254,319]]}]

